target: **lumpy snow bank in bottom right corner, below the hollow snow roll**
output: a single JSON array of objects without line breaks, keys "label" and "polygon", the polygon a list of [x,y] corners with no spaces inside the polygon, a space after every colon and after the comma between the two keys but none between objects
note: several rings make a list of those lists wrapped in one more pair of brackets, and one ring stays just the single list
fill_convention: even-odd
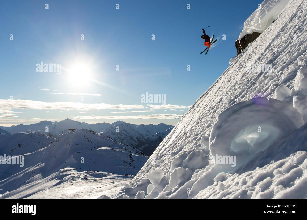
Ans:
[{"label": "lumpy snow bank in bottom right corner, below the hollow snow roll", "polygon": [[307,124],[258,153],[241,171],[219,173],[194,198],[307,198],[306,143]]}]

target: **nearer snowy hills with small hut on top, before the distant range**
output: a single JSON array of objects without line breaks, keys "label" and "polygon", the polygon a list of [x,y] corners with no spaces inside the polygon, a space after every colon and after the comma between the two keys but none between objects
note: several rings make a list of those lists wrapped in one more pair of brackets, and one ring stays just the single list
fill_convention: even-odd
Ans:
[{"label": "nearer snowy hills with small hut on top, before the distant range", "polygon": [[[125,184],[148,159],[84,128],[57,139],[37,132],[0,134],[0,143],[0,156],[6,157],[0,161],[1,198],[73,198],[77,191],[95,198],[102,195],[101,186],[112,191]],[[21,155],[23,164],[9,162],[8,156]]]}]

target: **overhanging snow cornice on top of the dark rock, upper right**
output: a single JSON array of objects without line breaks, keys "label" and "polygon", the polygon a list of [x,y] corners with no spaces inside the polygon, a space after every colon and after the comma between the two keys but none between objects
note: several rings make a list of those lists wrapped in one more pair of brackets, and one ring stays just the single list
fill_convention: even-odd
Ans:
[{"label": "overhanging snow cornice on top of the dark rock, upper right", "polygon": [[266,30],[282,12],[290,0],[265,0],[257,10],[244,22],[244,27],[237,40],[247,33],[262,33]]}]

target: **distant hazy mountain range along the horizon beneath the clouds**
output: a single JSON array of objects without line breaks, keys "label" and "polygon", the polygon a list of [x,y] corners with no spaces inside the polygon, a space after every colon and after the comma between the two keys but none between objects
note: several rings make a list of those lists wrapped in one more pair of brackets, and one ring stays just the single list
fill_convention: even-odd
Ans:
[{"label": "distant hazy mountain range along the horizon beneath the clouds", "polygon": [[16,133],[16,132],[37,132],[45,135],[59,137],[68,131],[69,128],[94,131],[99,134],[109,136],[119,143],[130,145],[135,148],[142,148],[147,156],[156,149],[163,138],[171,131],[172,125],[167,124],[130,124],[123,121],[116,121],[112,124],[98,123],[88,124],[78,122],[71,119],[65,119],[59,122],[48,120],[41,121],[36,124],[19,124],[17,126],[3,127],[0,126],[0,133]]}]

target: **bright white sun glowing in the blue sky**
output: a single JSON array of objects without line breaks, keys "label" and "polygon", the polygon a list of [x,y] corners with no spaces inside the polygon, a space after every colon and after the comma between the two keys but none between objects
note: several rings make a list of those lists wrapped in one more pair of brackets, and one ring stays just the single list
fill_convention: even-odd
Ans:
[{"label": "bright white sun glowing in the blue sky", "polygon": [[68,70],[69,84],[73,86],[86,87],[92,81],[91,65],[75,62]]}]

